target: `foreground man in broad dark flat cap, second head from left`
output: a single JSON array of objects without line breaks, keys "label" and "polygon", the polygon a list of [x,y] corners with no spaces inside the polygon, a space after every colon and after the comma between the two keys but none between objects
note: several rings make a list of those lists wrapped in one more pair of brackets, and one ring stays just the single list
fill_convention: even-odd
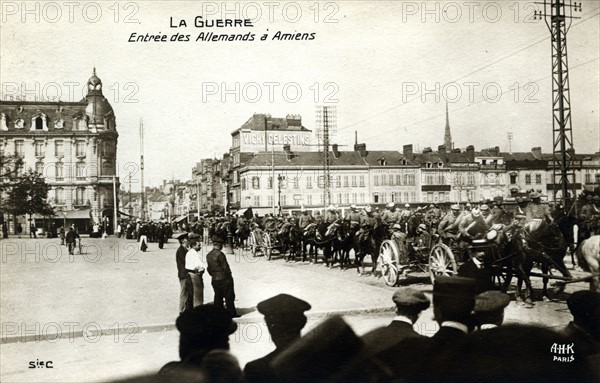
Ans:
[{"label": "foreground man in broad dark flat cap, second head from left", "polygon": [[256,309],[265,316],[275,351],[246,364],[244,375],[248,383],[274,382],[276,379],[271,361],[300,339],[300,332],[307,322],[304,312],[310,310],[311,306],[302,299],[279,294],[260,302]]}]

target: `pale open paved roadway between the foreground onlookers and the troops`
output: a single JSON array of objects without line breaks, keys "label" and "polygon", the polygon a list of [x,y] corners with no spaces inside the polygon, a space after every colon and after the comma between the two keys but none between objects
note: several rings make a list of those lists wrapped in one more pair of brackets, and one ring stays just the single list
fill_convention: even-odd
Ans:
[{"label": "pale open paved roadway between the foreground onlookers and the troops", "polygon": [[[58,239],[0,241],[2,382],[106,381],[155,372],[177,360],[176,241],[169,240],[162,250],[150,243],[147,252],[125,239],[83,238],[82,243],[82,254],[69,255]],[[204,246],[202,253],[209,250]],[[242,250],[227,257],[236,305],[243,314],[236,319],[231,350],[242,367],[274,349],[256,304],[276,294],[291,294],[312,305],[305,332],[339,314],[361,335],[386,325],[394,315],[394,288],[373,275],[338,266],[328,269],[321,262],[267,261]],[[578,270],[574,274],[582,275]],[[539,293],[541,282],[533,281]],[[432,289],[425,273],[404,283]],[[212,301],[208,275],[204,284],[205,302]],[[506,322],[564,326],[571,319],[567,294],[587,288],[584,283],[568,285],[566,293],[534,306],[513,300]],[[432,317],[430,308],[416,324],[418,331],[435,333]],[[51,361],[52,368],[37,367],[39,361]]]}]

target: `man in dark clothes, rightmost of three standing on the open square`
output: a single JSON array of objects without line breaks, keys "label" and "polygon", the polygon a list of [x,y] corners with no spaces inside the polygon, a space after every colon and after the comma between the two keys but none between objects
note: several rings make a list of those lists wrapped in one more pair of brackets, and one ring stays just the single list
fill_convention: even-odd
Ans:
[{"label": "man in dark clothes, rightmost of three standing on the open square", "polygon": [[212,277],[212,286],[215,291],[215,306],[223,307],[223,300],[227,307],[227,312],[232,318],[239,318],[235,309],[235,290],[231,268],[227,262],[223,249],[221,238],[213,238],[213,249],[206,255],[207,271]]}]

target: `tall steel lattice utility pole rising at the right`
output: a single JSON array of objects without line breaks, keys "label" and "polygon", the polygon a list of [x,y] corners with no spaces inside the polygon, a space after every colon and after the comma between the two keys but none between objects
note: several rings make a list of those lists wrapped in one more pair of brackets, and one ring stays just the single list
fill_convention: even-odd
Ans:
[{"label": "tall steel lattice utility pole rising at the right", "polygon": [[[534,17],[546,21],[552,35],[552,182],[553,199],[560,199],[565,210],[575,207],[575,150],[571,126],[571,92],[567,58],[567,33],[571,28],[573,12],[581,12],[581,3],[565,3],[566,0],[544,0],[544,11],[536,11]],[[567,14],[568,13],[568,14]]]}]

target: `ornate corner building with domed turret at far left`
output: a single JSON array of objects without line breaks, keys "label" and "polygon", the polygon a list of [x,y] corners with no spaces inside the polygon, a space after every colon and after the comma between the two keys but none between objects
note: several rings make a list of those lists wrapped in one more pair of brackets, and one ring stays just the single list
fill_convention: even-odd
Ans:
[{"label": "ornate corner building with domed turret at far left", "polygon": [[[0,154],[22,157],[18,173],[32,169],[42,174],[52,187],[53,219],[76,224],[80,232],[88,232],[92,220],[113,221],[118,137],[114,111],[95,69],[80,102],[0,102]],[[8,179],[0,182],[9,184]],[[29,227],[24,217],[12,217],[11,228],[16,220]]]}]

